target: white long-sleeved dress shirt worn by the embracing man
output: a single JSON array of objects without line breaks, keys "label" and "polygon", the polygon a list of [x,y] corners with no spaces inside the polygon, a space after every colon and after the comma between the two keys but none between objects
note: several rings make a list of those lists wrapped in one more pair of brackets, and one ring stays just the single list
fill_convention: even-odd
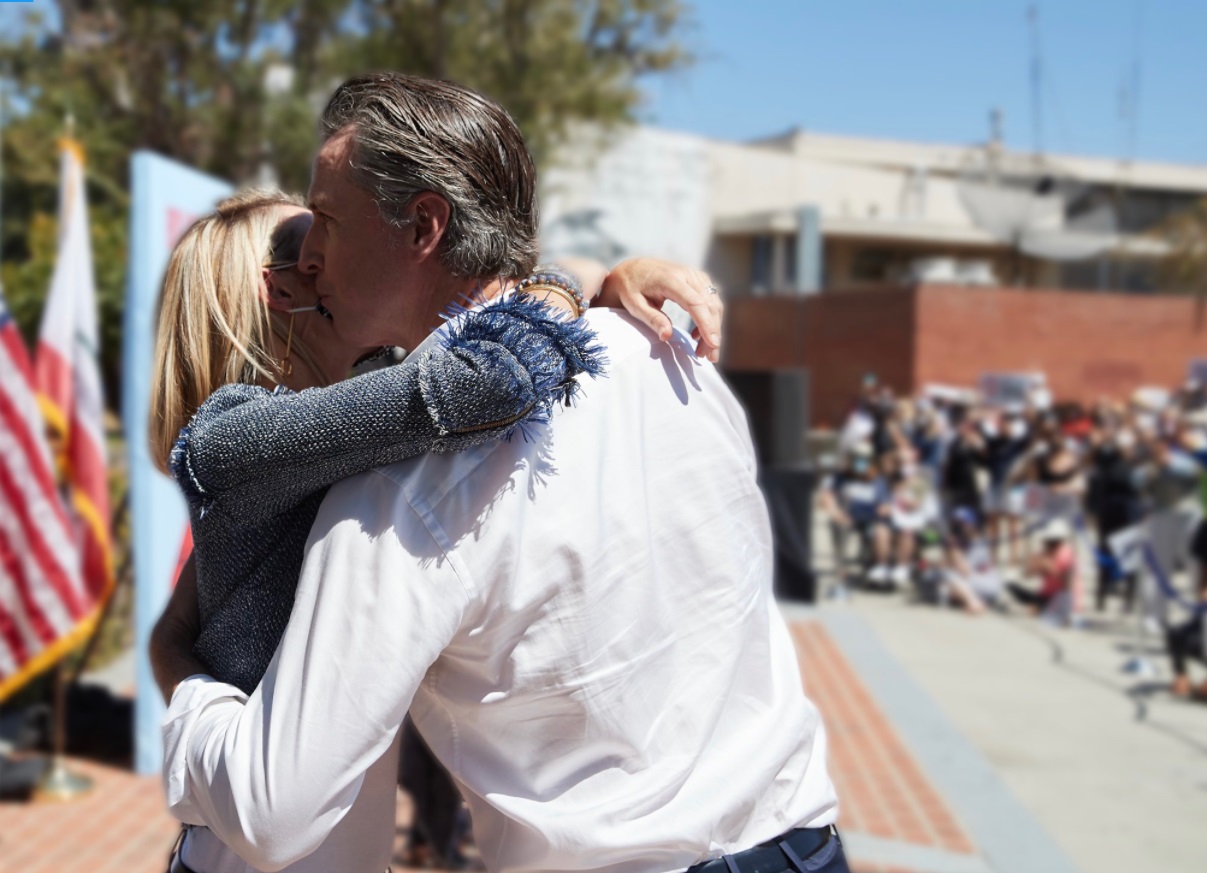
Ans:
[{"label": "white long-sleeved dress shirt worn by the embracing man", "polygon": [[256,692],[177,688],[188,866],[380,873],[408,709],[496,873],[676,871],[834,821],[741,407],[682,334],[588,318],[608,376],[576,406],[332,488]]}]

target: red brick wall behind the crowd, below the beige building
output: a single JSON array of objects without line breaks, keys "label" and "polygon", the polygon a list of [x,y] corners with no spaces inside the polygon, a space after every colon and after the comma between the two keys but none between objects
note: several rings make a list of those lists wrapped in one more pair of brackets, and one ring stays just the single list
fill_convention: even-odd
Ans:
[{"label": "red brick wall behind the crowd, below the beige building", "polygon": [[919,286],[746,298],[727,309],[724,366],[805,366],[815,426],[841,421],[864,373],[898,391],[1042,371],[1057,398],[1172,386],[1207,357],[1207,309],[1188,297]]}]

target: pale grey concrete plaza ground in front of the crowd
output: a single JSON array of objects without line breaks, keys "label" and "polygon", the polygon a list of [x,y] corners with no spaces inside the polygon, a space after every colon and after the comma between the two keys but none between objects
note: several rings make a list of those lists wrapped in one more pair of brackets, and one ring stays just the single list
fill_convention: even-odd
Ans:
[{"label": "pale grey concrete plaza ground in front of the crowd", "polygon": [[870,594],[818,619],[989,869],[1202,869],[1207,705],[1167,693],[1155,645],[1155,677],[1124,673],[1126,625],[1062,630]]}]

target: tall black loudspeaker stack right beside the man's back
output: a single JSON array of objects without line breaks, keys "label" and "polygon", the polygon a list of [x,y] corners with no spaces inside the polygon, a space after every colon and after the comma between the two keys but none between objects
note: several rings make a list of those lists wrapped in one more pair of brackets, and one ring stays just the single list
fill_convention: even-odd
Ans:
[{"label": "tall black loudspeaker stack right beside the man's back", "polygon": [[812,506],[816,476],[809,462],[809,373],[804,369],[728,372],[746,407],[759,484],[771,514],[775,593],[786,600],[816,599]]}]

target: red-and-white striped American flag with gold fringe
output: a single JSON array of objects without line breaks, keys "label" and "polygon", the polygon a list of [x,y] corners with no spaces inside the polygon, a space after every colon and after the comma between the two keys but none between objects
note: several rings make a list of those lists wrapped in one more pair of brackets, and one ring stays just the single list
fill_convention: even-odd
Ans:
[{"label": "red-and-white striped American flag with gold fringe", "polygon": [[76,543],[34,372],[0,292],[0,700],[91,632]]}]

